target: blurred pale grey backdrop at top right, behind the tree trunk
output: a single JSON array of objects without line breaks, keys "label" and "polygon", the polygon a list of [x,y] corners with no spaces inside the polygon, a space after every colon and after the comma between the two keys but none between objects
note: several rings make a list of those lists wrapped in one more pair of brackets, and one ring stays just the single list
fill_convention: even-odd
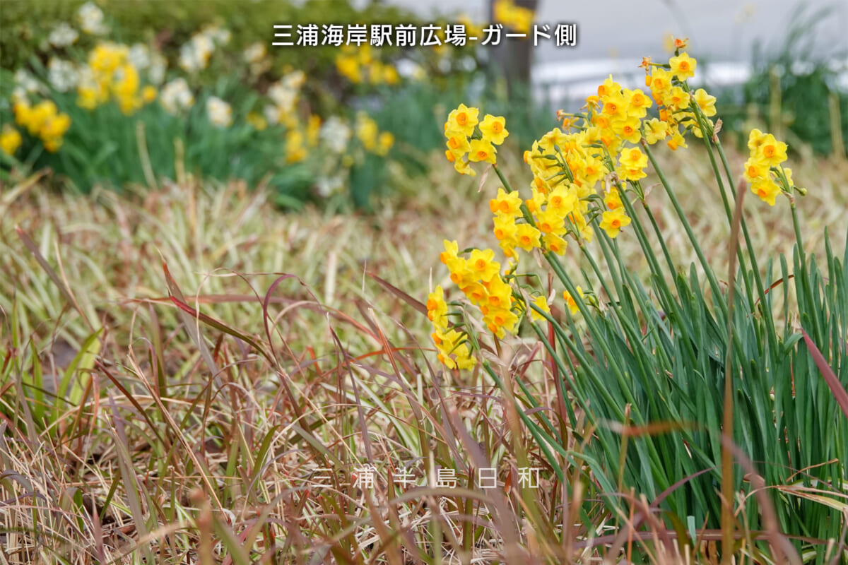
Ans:
[{"label": "blurred pale grey backdrop at top right, behind the tree trunk", "polygon": [[[366,3],[364,0],[360,4]],[[415,10],[422,16],[461,10],[477,21],[488,19],[488,0],[386,0]],[[659,58],[663,36],[671,33],[690,39],[689,53],[713,60],[750,60],[754,45],[763,42],[773,50],[784,46],[793,22],[807,19],[817,10],[834,8],[809,37],[815,38],[817,54],[848,54],[848,2],[806,0],[806,18],[796,18],[796,1],[787,0],[539,0],[538,24],[577,24],[578,45],[572,48],[542,47],[537,61],[563,58]]]}]

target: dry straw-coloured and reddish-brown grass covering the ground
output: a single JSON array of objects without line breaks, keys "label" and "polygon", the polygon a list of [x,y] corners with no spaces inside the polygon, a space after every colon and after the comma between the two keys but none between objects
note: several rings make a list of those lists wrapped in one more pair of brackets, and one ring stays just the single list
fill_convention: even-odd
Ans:
[{"label": "dry straw-coloured and reddish-brown grass covering the ground", "polygon": [[[663,166],[701,245],[722,264],[729,228],[708,162],[696,150],[669,153],[661,151]],[[734,169],[743,160],[731,155]],[[428,368],[434,357],[416,351],[427,344],[426,317],[367,275],[424,300],[431,285],[449,286],[438,263],[443,239],[494,246],[488,197],[497,177],[477,191],[483,175],[461,177],[438,157],[431,164],[427,179],[399,179],[399,197],[371,216],[279,213],[265,192],[237,183],[123,197],[35,185],[2,201],[0,559],[207,563],[226,554],[226,562],[261,555],[305,563],[382,555],[377,562],[406,563],[434,562],[441,551],[444,562],[506,555],[530,563],[597,555],[579,557],[574,547],[566,555],[517,518],[530,508],[548,517],[536,528],[560,531],[567,507],[557,491],[527,497],[513,489],[483,505],[428,490],[393,503],[388,493],[399,491],[387,485],[373,501],[352,485],[351,468],[365,462],[382,472],[390,462],[410,463],[421,473],[453,464],[461,474],[486,456],[503,471],[515,467],[516,446],[527,441],[510,434],[503,398],[480,374]],[[505,171],[523,189],[530,179],[519,164],[508,158]],[[799,204],[808,252],[823,251],[825,226],[834,228],[834,246],[844,245],[848,167],[810,160],[794,169],[809,191]],[[786,202],[768,208],[755,200],[745,210],[758,252],[790,253]],[[661,186],[650,202],[672,255],[689,264],[691,248]],[[635,241],[627,232],[618,241],[644,273]],[[163,262],[187,306],[243,331],[268,355],[204,324],[200,341],[192,339],[181,322],[194,320],[181,319],[168,298]],[[265,311],[261,299],[284,273],[306,286],[284,280]],[[515,352],[538,360],[538,350]],[[65,374],[71,385],[63,391]],[[540,371],[527,379],[554,402]],[[460,429],[477,436],[457,437]],[[306,489],[310,476],[331,464],[332,486],[315,496]],[[477,520],[474,551],[460,541],[471,531],[462,522],[469,513]],[[572,535],[585,543],[604,533],[599,523]],[[664,548],[648,542],[644,551],[674,562]]]}]

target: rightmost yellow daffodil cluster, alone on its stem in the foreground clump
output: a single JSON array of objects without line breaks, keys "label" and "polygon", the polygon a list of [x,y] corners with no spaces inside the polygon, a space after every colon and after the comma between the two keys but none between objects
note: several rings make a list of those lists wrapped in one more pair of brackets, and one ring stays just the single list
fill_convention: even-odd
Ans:
[{"label": "rightmost yellow daffodil cluster, alone on its stem in the foreground clump", "polygon": [[792,169],[780,164],[786,160],[786,148],[783,141],[760,130],[751,130],[748,136],[750,158],[745,161],[745,180],[750,182],[750,190],[769,206],[774,206],[781,191],[789,194],[795,188],[806,194],[792,182]]}]

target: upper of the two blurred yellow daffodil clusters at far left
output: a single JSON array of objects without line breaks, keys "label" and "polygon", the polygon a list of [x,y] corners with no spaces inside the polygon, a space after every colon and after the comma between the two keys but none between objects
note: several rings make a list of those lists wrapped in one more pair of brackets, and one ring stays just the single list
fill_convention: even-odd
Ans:
[{"label": "upper of the two blurred yellow daffodil clusters at far left", "polygon": [[130,50],[114,42],[98,44],[88,54],[76,87],[77,104],[93,110],[114,97],[123,114],[130,115],[156,99],[156,88],[141,87],[138,69],[128,60]]}]

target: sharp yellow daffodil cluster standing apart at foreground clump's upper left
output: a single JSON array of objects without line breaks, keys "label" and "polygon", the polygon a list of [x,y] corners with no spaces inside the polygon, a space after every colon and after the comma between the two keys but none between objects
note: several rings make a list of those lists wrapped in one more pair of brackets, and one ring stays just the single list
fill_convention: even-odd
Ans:
[{"label": "sharp yellow daffodil cluster standing apart at foreground clump's upper left", "polygon": [[448,138],[448,149],[444,154],[461,174],[477,174],[471,169],[471,163],[485,161],[494,164],[497,153],[494,146],[503,143],[510,135],[501,116],[486,114],[481,122],[477,119],[479,115],[478,108],[460,104],[444,123],[444,136]]}]

